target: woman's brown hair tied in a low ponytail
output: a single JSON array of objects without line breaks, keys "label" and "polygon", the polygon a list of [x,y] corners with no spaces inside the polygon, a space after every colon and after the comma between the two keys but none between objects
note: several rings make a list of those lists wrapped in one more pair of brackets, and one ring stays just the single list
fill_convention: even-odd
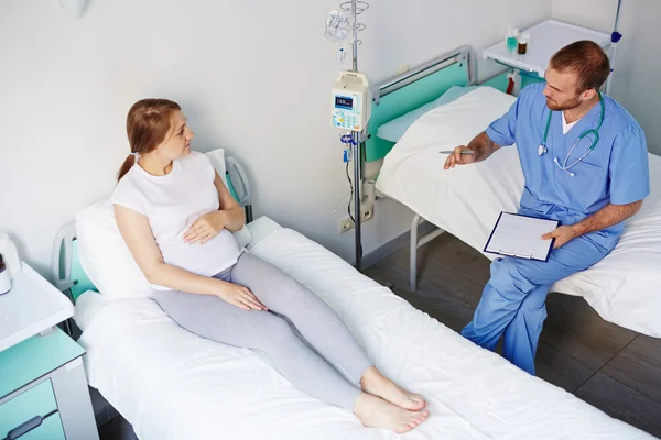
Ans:
[{"label": "woman's brown hair tied in a low ponytail", "polygon": [[[172,125],[172,114],[181,110],[178,103],[167,99],[148,98],[136,102],[127,117],[127,134],[131,153],[144,154],[153,151]],[[136,164],[136,155],[129,154],[117,173],[117,182]]]}]

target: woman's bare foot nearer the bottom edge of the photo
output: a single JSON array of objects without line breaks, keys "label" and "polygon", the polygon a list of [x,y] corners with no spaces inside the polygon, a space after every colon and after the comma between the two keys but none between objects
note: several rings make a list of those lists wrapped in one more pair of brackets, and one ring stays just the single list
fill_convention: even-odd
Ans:
[{"label": "woman's bare foot nearer the bottom edge of the photo", "polygon": [[354,413],[366,427],[386,428],[397,433],[409,432],[430,415],[427,410],[409,411],[367,393],[360,393]]}]

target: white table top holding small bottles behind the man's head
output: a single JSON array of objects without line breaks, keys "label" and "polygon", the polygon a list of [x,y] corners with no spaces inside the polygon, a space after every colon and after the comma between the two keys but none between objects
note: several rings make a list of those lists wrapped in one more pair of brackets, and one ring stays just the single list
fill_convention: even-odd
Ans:
[{"label": "white table top holding small bottles behind the man's head", "polygon": [[546,20],[524,31],[520,34],[530,34],[530,42],[525,55],[511,55],[507,51],[505,37],[498,44],[483,52],[483,57],[501,62],[508,66],[516,67],[525,72],[534,72],[540,77],[544,77],[549,61],[555,52],[567,44],[581,41],[592,40],[602,47],[610,44],[610,35],[593,31],[589,29],[564,23],[557,20]]}]

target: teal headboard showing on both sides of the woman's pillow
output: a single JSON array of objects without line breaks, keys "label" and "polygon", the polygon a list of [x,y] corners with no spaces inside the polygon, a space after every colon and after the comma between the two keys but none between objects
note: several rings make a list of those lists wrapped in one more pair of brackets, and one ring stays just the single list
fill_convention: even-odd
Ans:
[{"label": "teal headboard showing on both sides of the woman's pillow", "polygon": [[[234,199],[246,211],[246,222],[252,221],[252,202],[248,175],[241,164],[232,156],[225,158],[225,180]],[[87,290],[98,292],[80,265],[76,224],[69,223],[59,230],[55,238],[52,255],[52,271],[55,286],[76,304],[78,297]]]}]

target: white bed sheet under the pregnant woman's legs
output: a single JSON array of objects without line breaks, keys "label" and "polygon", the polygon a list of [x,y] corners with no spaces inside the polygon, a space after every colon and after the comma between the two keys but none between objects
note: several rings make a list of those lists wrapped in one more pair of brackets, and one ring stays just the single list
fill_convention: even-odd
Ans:
[{"label": "white bed sheet under the pregnant woman's legs", "polygon": [[[278,229],[252,252],[319,295],[381,371],[427,397],[432,416],[401,438],[652,438],[474,345],[295,231]],[[150,299],[106,304],[79,342],[91,386],[142,440],[398,438],[297,391],[253,352],[183,330]]]}]

